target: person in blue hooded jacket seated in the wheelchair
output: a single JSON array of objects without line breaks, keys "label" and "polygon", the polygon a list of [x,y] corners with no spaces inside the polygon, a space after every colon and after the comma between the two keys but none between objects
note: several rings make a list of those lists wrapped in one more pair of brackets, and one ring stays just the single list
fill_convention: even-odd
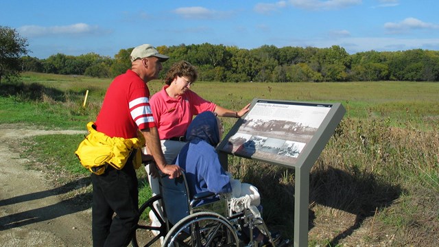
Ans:
[{"label": "person in blue hooded jacket seated in the wheelchair", "polygon": [[[250,206],[252,213],[257,217],[261,217],[259,213],[261,207],[257,208],[260,201],[256,187],[244,183],[241,185],[239,180],[234,180],[219,163],[215,147],[221,141],[223,132],[221,120],[214,113],[207,111],[197,115],[187,129],[186,139],[188,143],[180,150],[175,164],[185,171],[190,195],[210,191],[213,193],[230,193],[235,198],[248,198],[247,207],[252,204]],[[251,196],[243,197],[241,190],[248,191],[248,193],[252,191]],[[205,202],[206,200],[200,203]],[[258,231],[255,228],[255,230],[252,235],[259,242],[258,246],[271,244],[268,233],[264,235],[265,231],[263,229]],[[248,239],[248,236],[245,235],[249,235],[250,231],[244,229],[243,233],[244,237]],[[272,242],[280,242],[279,233],[271,234],[271,238]]]}]

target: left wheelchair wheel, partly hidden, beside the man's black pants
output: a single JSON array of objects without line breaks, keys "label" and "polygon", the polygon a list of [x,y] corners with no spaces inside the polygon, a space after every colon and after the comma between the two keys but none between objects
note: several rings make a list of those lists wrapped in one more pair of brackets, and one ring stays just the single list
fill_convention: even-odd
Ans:
[{"label": "left wheelchair wheel, partly hidden, beside the man's black pants", "polygon": [[[157,200],[161,200],[161,195],[156,195],[147,200],[139,209],[139,222],[137,222],[136,230],[134,231],[134,235],[132,237],[131,244],[134,247],[139,246],[152,246],[156,243],[160,237],[165,237],[167,233],[166,223],[163,221],[161,216],[158,214],[157,210],[153,207],[154,202]],[[147,214],[147,209],[154,212],[158,221],[160,222],[160,226],[151,226],[149,216]],[[147,220],[142,220],[141,217],[147,217]],[[152,233],[152,231],[158,232],[158,235]],[[158,242],[160,245],[160,242]]]}]

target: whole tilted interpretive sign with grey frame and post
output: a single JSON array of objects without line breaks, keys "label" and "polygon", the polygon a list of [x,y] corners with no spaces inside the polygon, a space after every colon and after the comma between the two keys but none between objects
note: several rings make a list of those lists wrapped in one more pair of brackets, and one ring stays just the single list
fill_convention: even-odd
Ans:
[{"label": "whole tilted interpretive sign with grey frame and post", "polygon": [[294,246],[308,246],[309,173],[342,120],[342,104],[253,99],[217,147],[227,168],[233,154],[294,167]]}]

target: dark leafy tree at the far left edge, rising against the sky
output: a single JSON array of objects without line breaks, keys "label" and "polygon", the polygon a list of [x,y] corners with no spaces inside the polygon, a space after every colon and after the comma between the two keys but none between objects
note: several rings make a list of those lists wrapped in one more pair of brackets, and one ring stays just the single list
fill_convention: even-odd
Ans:
[{"label": "dark leafy tree at the far left edge, rising against the sky", "polygon": [[10,78],[21,70],[21,56],[29,52],[27,39],[22,38],[15,29],[0,26],[0,82],[1,77]]}]

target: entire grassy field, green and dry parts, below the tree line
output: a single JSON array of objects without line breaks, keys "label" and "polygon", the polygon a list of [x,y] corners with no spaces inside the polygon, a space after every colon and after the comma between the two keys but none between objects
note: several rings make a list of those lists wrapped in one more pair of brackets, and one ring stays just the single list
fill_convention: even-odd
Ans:
[{"label": "entire grassy field, green and dry parts, below the tree line", "polygon": [[[110,84],[40,73],[22,80],[0,84],[0,124],[85,130]],[[149,86],[155,93],[163,83]],[[343,104],[346,115],[311,169],[309,246],[439,246],[439,83],[195,82],[191,89],[233,109],[254,98]],[[226,131],[235,123],[223,121]],[[23,155],[40,162],[63,156],[57,169],[76,174],[66,179],[84,177],[73,155],[82,138],[35,137]],[[259,188],[265,221],[292,238],[294,170],[231,156],[229,170]],[[143,176],[140,169],[147,186]],[[147,197],[142,189],[141,200]]]}]

